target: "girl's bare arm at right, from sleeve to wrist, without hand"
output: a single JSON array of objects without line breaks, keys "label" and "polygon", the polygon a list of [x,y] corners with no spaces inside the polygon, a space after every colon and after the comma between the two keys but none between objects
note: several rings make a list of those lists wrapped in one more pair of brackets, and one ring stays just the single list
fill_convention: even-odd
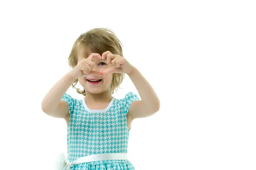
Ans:
[{"label": "girl's bare arm at right, from sleeve to wrist, without hand", "polygon": [[135,67],[128,76],[139,92],[141,100],[132,102],[127,116],[131,119],[143,118],[159,111],[160,101],[158,96],[145,77]]}]

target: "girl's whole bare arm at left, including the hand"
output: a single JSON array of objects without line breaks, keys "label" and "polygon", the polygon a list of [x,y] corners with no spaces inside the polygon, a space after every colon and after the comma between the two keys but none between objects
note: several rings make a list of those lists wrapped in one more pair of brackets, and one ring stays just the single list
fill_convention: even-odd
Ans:
[{"label": "girl's whole bare arm at left, including the hand", "polygon": [[73,68],[72,71],[62,77],[44,96],[41,103],[42,110],[49,116],[64,118],[67,120],[69,116],[69,106],[67,102],[61,101],[61,98],[66,93],[67,89],[70,88],[72,83],[81,77],[86,77],[88,74],[102,76],[99,71],[93,71],[94,62],[93,58],[102,59],[97,53],[92,53],[85,59],[84,51],[80,51],[78,54],[81,61]]}]

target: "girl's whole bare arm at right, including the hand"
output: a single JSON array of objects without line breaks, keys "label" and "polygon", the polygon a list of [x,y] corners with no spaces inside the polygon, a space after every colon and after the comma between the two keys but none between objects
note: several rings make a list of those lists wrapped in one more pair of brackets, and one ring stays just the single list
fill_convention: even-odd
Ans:
[{"label": "girl's whole bare arm at right, including the hand", "polygon": [[160,101],[158,96],[140,71],[132,66],[124,57],[112,54],[110,51],[102,54],[102,59],[106,57],[107,62],[112,64],[112,68],[106,69],[103,75],[110,73],[128,74],[140,94],[141,100],[131,103],[126,117],[132,121],[136,118],[151,116],[159,111]]}]

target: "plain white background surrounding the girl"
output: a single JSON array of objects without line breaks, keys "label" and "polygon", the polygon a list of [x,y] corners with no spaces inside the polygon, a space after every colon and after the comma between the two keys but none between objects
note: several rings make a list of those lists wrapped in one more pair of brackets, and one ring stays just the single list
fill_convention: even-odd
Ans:
[{"label": "plain white background surrounding the girl", "polygon": [[[255,8],[253,0],[1,1],[1,169],[52,170],[66,123],[41,101],[70,71],[76,38],[107,27],[161,101],[132,123],[136,170],[255,170]],[[121,87],[116,98],[138,94],[128,77]]]}]

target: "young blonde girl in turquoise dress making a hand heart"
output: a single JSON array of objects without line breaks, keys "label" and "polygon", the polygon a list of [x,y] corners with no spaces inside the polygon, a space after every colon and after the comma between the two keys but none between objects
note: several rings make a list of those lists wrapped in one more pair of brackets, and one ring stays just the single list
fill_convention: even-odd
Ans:
[{"label": "young blonde girl in turquoise dress making a hand heart", "polygon": [[[72,71],[42,101],[44,113],[67,122],[65,170],[134,170],[127,158],[131,122],[156,113],[160,101],[143,75],[123,57],[121,45],[107,28],[81,34],[68,59]],[[124,74],[141,100],[132,92],[123,99],[112,96]],[[77,82],[84,88],[76,89],[84,95],[81,100],[66,94]]]}]

